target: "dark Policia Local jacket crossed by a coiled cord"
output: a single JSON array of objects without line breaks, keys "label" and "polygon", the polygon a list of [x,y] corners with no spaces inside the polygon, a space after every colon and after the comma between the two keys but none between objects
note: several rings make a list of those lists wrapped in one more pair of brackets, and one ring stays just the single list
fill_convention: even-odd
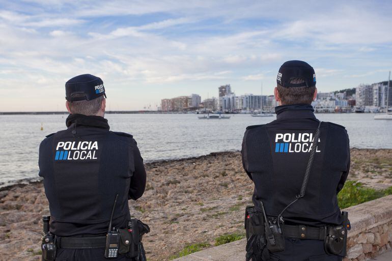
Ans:
[{"label": "dark Policia Local jacket crossed by a coiled cord", "polygon": [[[255,183],[253,201],[266,214],[276,217],[299,194],[311,142],[319,120],[311,105],[275,108],[276,120],[246,128],[242,163]],[[305,196],[290,206],[287,223],[321,226],[341,224],[337,194],[350,168],[350,148],[343,126],[323,122],[313,168]]]}]

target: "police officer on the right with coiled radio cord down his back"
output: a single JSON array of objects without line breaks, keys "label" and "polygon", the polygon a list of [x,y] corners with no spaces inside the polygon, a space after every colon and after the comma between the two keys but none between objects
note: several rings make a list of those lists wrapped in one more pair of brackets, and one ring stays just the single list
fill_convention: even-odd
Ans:
[{"label": "police officer on the right with coiled radio cord down his back", "polygon": [[[262,220],[251,224],[263,223],[262,229],[253,230],[258,237],[248,238],[247,259],[342,260],[341,234],[347,235],[347,230],[339,230],[342,241],[329,240],[337,238],[328,231],[342,229],[344,223],[337,194],[350,168],[347,131],[315,117],[311,103],[317,95],[316,75],[305,62],[288,61],[281,66],[274,95],[279,103],[276,120],[247,127],[242,143],[243,167],[255,184],[254,212]],[[318,128],[320,136],[315,140]],[[309,172],[307,182],[305,172]],[[338,241],[341,244],[332,248],[339,249],[330,250],[328,244]]]}]

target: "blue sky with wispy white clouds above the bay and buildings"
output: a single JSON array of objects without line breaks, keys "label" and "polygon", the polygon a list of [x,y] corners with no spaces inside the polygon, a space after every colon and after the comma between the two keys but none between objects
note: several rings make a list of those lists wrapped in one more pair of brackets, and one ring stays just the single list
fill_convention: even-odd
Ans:
[{"label": "blue sky with wispy white clouds above the bay and buildings", "polygon": [[388,79],[388,1],[0,0],[0,111],[63,111],[65,82],[102,78],[109,110],[163,98],[272,95],[288,60],[319,92]]}]

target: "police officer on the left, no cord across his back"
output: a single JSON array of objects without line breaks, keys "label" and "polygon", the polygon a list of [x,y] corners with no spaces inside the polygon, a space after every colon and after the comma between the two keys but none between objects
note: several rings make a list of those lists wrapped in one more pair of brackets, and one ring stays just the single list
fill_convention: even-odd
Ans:
[{"label": "police officer on the left, no cord across his back", "polygon": [[146,186],[143,158],[132,135],[109,131],[100,78],[79,75],[65,89],[67,129],[46,136],[39,148],[55,260],[107,260],[105,235],[115,197],[113,227],[126,228],[128,200],[141,197]]}]

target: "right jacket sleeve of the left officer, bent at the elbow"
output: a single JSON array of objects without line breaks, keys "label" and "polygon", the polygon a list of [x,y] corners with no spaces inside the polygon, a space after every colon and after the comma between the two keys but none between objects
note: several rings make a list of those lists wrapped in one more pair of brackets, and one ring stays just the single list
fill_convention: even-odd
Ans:
[{"label": "right jacket sleeve of the left officer, bent at the elbow", "polygon": [[131,185],[129,186],[128,199],[136,200],[143,195],[146,189],[146,169],[144,168],[143,158],[136,145],[133,149],[133,161],[135,171],[133,172]]}]

